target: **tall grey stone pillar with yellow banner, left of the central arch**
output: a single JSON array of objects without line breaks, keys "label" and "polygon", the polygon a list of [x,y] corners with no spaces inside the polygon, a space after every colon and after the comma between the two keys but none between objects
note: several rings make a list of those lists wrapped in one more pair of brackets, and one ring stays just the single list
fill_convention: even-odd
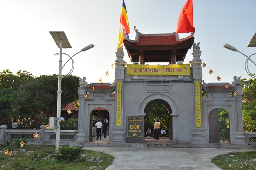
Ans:
[{"label": "tall grey stone pillar with yellow banner, left of the central arch", "polygon": [[[117,49],[116,61],[115,61],[115,83],[116,83],[116,96],[115,96],[115,111],[111,116],[111,124],[114,124],[114,130],[112,131],[113,138],[110,143],[126,143],[124,140],[124,117],[123,117],[123,79],[124,79],[124,60],[123,60],[123,46]],[[120,86],[120,87],[119,87]],[[120,110],[118,110],[120,109]]]}]

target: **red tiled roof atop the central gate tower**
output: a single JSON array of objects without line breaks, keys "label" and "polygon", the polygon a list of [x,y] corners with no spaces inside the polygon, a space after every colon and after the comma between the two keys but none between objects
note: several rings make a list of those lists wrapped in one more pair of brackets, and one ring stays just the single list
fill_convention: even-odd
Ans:
[{"label": "red tiled roof atop the central gate tower", "polygon": [[188,39],[184,39],[181,41],[177,41],[175,35],[162,35],[162,36],[139,36],[139,41],[129,41],[135,45],[139,46],[155,46],[155,45],[176,45],[187,41]]}]

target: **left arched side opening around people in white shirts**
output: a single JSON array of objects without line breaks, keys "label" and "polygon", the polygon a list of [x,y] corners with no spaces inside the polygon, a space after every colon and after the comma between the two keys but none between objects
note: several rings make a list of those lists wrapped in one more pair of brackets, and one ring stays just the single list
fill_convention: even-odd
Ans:
[{"label": "left arched side opening around people in white shirts", "polygon": [[[105,120],[108,123],[108,130],[107,130],[107,137],[109,137],[109,112],[105,108],[95,108],[90,113],[90,141],[92,141],[92,138],[94,138],[96,134],[95,124],[97,120],[99,119],[101,123],[103,123]],[[102,134],[103,135],[103,134]]]}]

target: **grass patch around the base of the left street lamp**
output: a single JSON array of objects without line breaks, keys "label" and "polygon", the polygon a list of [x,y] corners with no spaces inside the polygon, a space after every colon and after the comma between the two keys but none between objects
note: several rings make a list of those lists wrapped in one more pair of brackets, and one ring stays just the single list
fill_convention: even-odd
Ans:
[{"label": "grass patch around the base of the left street lamp", "polygon": [[[0,145],[1,150],[6,145]],[[0,169],[8,170],[103,170],[114,157],[103,153],[84,150],[79,159],[59,163],[51,156],[55,153],[55,145],[26,145],[26,152],[16,152],[11,156],[0,154]]]}]

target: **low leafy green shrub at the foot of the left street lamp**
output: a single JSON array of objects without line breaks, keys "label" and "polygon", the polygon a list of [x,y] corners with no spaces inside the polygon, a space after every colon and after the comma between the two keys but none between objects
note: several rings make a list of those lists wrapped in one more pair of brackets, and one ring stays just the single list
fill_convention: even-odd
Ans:
[{"label": "low leafy green shrub at the foot of the left street lamp", "polygon": [[58,162],[73,161],[80,158],[80,154],[83,154],[82,147],[69,147],[68,145],[61,146],[58,152],[55,152],[51,158],[55,158]]}]

